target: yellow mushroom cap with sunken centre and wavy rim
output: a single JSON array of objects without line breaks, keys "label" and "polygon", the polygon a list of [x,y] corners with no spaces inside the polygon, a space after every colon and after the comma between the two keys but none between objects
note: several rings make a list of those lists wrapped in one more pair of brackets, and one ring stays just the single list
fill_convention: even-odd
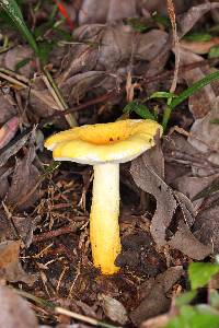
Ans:
[{"label": "yellow mushroom cap with sunken centre and wavy rim", "polygon": [[57,161],[81,164],[125,163],[154,145],[162,127],[150,119],[126,119],[72,128],[48,138],[45,147]]}]

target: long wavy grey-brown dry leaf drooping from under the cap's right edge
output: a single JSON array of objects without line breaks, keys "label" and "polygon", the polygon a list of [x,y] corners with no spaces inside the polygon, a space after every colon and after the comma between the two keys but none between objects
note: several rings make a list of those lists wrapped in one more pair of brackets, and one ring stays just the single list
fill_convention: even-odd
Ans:
[{"label": "long wavy grey-brown dry leaf drooping from under the cap's right edge", "polygon": [[[135,183],[143,191],[153,195],[157,200],[157,209],[150,227],[151,235],[159,246],[169,244],[191,258],[203,259],[211,253],[211,247],[201,244],[189,230],[195,218],[193,203],[185,195],[172,190],[163,181],[162,171],[163,155],[158,145],[131,162],[131,175]],[[177,229],[175,227],[176,232],[173,233],[170,231],[170,225],[177,206],[183,216],[180,218]]]}]

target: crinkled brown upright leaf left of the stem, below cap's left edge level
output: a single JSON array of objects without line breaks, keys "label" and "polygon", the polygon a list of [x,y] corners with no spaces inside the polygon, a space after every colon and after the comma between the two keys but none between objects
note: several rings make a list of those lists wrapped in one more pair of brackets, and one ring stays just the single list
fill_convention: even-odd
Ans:
[{"label": "crinkled brown upright leaf left of the stem, below cap's left edge level", "polygon": [[18,160],[12,184],[5,198],[8,204],[16,206],[16,209],[20,210],[32,207],[39,197],[38,189],[32,192],[39,179],[39,172],[33,165],[35,149],[30,147],[26,155],[22,160]]}]

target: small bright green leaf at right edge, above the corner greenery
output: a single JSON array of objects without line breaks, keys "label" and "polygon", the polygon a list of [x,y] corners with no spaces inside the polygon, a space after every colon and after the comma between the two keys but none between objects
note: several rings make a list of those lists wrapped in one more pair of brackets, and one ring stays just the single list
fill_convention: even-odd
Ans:
[{"label": "small bright green leaf at right edge, above the corner greenery", "polygon": [[195,262],[189,265],[188,277],[192,290],[206,285],[212,276],[219,272],[219,265],[208,262]]}]

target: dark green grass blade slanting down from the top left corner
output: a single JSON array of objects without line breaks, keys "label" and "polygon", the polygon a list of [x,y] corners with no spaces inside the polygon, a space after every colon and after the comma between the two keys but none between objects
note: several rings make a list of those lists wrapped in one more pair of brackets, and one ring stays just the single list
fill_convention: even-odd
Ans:
[{"label": "dark green grass blade slanting down from the top left corner", "polygon": [[23,35],[26,42],[28,42],[30,46],[34,50],[36,55],[38,55],[38,47],[36,42],[26,26],[21,10],[15,0],[0,0],[0,7],[7,12],[10,19],[15,24],[16,28]]}]

